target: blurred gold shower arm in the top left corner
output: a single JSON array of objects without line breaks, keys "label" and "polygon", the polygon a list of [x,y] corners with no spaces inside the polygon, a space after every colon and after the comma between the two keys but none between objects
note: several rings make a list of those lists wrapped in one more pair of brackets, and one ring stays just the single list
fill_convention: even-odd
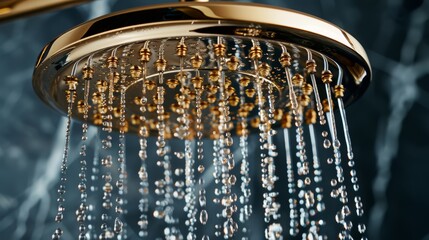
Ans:
[{"label": "blurred gold shower arm in the top left corner", "polygon": [[27,15],[70,7],[90,0],[2,0],[0,1],[0,22]]}]

